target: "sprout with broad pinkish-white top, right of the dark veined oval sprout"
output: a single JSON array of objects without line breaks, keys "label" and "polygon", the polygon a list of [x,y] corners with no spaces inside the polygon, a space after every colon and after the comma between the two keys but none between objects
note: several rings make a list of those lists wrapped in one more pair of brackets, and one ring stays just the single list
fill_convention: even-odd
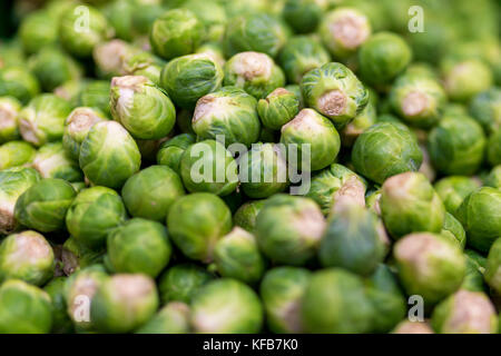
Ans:
[{"label": "sprout with broad pinkish-white top, right of the dark veined oval sprout", "polygon": [[244,89],[256,99],[285,85],[285,75],[266,53],[239,52],[225,63],[224,85]]}]

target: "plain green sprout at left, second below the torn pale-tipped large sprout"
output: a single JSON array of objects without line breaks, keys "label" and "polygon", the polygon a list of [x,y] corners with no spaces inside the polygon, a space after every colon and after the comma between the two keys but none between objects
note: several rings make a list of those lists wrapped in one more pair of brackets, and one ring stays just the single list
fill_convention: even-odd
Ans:
[{"label": "plain green sprout at left, second below the torn pale-tipped large sprout", "polygon": [[97,249],[106,236],[127,218],[120,196],[106,187],[84,189],[71,202],[66,216],[68,231],[79,243]]}]

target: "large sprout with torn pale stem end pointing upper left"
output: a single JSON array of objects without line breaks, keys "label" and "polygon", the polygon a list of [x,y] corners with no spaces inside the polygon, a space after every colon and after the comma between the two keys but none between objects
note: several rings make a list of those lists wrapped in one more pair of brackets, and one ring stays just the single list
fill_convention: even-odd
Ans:
[{"label": "large sprout with torn pale stem end pointing upper left", "polygon": [[114,119],[137,139],[166,137],[176,122],[176,109],[169,97],[141,76],[115,77],[110,107]]}]

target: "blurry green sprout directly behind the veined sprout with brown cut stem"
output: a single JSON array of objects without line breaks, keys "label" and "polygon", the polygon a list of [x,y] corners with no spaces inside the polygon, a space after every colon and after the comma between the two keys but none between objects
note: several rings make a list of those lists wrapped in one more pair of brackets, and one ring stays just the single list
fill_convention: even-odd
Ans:
[{"label": "blurry green sprout directly behind the veined sprout with brown cut stem", "polygon": [[310,70],[328,63],[331,55],[315,38],[297,36],[287,41],[278,60],[287,80],[301,83]]}]

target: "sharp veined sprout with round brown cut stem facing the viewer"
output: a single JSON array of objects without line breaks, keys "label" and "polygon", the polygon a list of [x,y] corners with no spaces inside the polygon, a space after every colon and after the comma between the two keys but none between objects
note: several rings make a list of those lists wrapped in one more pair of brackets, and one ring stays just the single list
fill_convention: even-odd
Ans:
[{"label": "sharp veined sprout with round brown cut stem facing the viewer", "polygon": [[369,91],[342,63],[330,62],[308,71],[301,81],[306,106],[330,118],[342,129],[369,101]]}]

